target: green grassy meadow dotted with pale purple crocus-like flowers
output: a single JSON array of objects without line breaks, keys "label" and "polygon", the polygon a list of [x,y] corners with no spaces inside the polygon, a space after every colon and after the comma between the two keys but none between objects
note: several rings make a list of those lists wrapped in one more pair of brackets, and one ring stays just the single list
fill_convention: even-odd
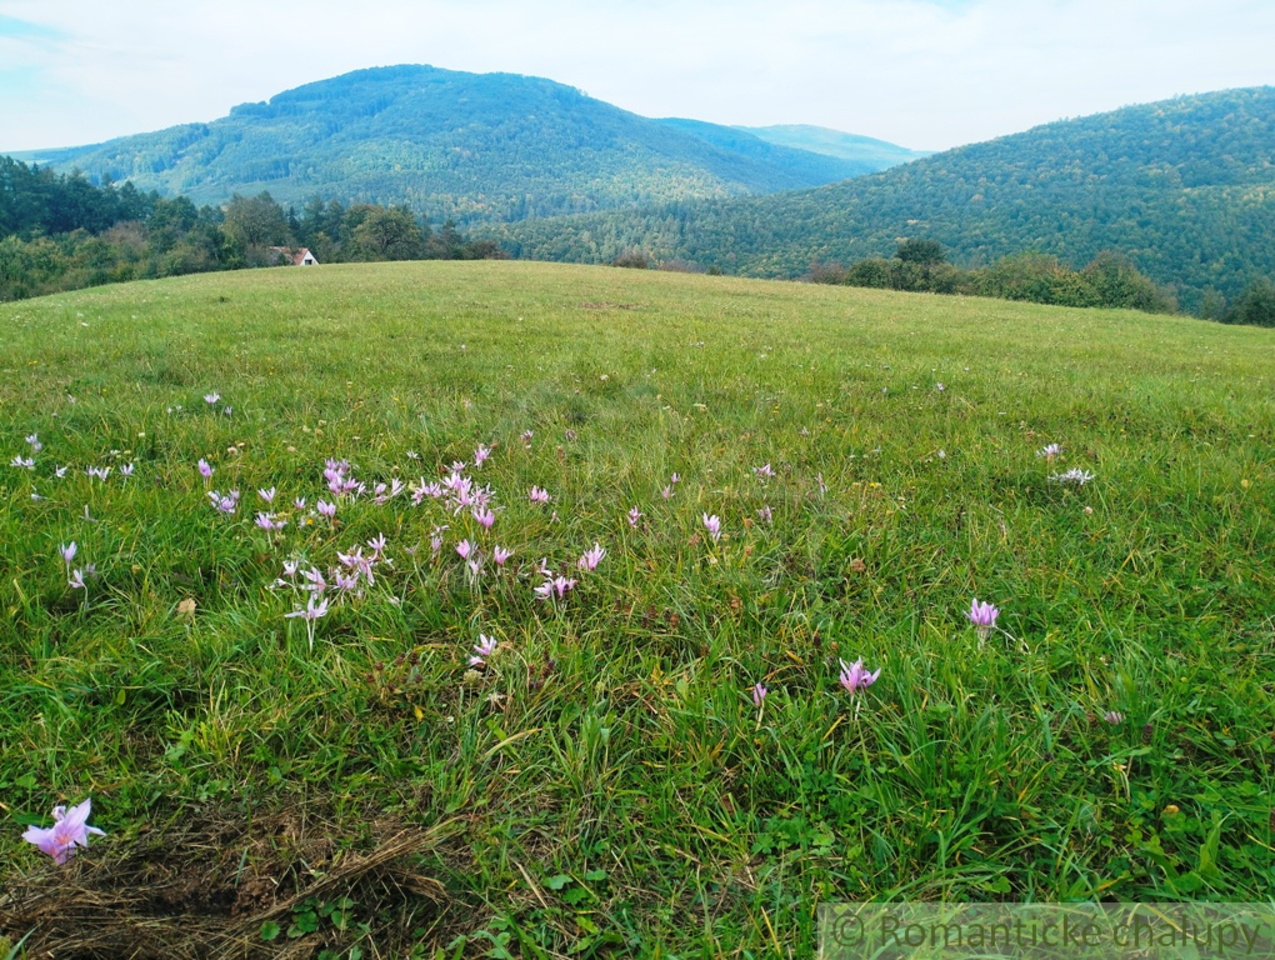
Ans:
[{"label": "green grassy meadow dotted with pale purple crocus-like flowers", "polygon": [[14,942],[808,956],[821,900],[1275,887],[1272,331],[527,263],[0,330]]}]

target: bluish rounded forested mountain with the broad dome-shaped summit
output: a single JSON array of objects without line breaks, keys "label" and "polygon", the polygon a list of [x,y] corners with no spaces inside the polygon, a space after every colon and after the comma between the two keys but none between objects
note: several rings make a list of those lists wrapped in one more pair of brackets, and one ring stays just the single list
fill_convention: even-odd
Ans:
[{"label": "bluish rounded forested mountain with the broad dome-shaped summit", "polygon": [[724,143],[552,80],[391,66],[245,103],[209,124],[15,156],[195,203],[269,190],[280,203],[407,204],[460,223],[766,194],[862,171],[732,134]]}]

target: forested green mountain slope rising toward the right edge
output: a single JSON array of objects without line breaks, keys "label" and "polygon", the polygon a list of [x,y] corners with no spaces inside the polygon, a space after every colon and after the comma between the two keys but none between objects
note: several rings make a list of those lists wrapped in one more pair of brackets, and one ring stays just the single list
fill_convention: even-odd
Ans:
[{"label": "forested green mountain slope rising toward the right edge", "polygon": [[1024,251],[1079,268],[1114,250],[1195,311],[1275,277],[1275,88],[1060,121],[815,190],[486,236],[524,258],[608,263],[640,250],[761,277],[890,256],[908,237],[940,241],[965,268]]}]

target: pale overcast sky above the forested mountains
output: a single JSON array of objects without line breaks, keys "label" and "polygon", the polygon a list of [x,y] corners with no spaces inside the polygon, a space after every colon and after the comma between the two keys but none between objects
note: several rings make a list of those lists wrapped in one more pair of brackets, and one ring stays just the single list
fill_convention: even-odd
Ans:
[{"label": "pale overcast sky above the forested mountains", "polygon": [[1275,0],[0,0],[0,150],[215,120],[407,62],[943,149],[1275,83]]}]

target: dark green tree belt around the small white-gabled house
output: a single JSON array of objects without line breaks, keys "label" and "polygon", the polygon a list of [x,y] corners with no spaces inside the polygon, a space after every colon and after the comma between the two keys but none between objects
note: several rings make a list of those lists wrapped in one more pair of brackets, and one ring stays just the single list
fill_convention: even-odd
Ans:
[{"label": "dark green tree belt around the small white-gabled house", "polygon": [[320,264],[501,256],[446,223],[435,231],[404,208],[310,200],[300,213],[268,193],[223,208],[94,186],[0,157],[0,301],[119,280],[269,266],[293,249]]}]

